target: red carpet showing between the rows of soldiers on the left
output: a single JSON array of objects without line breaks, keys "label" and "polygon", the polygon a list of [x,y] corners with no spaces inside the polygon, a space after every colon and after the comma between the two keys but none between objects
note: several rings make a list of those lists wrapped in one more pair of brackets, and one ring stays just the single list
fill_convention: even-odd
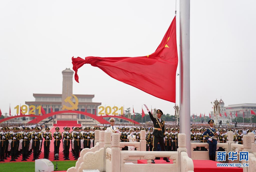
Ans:
[{"label": "red carpet showing between the rows of soldiers on the left", "polygon": [[[73,125],[69,125],[70,128],[72,128]],[[63,127],[59,127],[60,128],[60,133],[62,133],[64,131]],[[71,129],[72,131],[72,129]],[[52,129],[50,130],[50,132],[52,132],[52,134],[55,132],[55,127],[52,127]],[[43,139],[44,140],[44,139]],[[51,146],[50,146],[50,153],[49,153],[49,160],[50,161],[54,161],[54,139],[52,137],[52,141],[51,141]],[[40,154],[39,156],[39,159],[43,159],[44,158],[44,143],[42,145],[42,149],[41,149],[42,153]],[[62,141],[60,142],[60,154],[59,154],[59,159],[58,161],[64,161],[64,158],[63,158],[63,144],[62,144]],[[69,159],[70,160],[74,160],[74,157],[72,156],[72,153],[71,153],[71,144],[70,144],[70,148],[69,148]],[[30,155],[29,159],[27,159],[28,161],[21,161],[22,160],[22,155],[20,155],[20,157],[18,159],[16,159],[16,161],[11,161],[11,162],[31,162],[33,159],[33,152],[32,154]],[[5,162],[10,162],[11,160],[11,157],[10,158],[7,158],[7,160],[4,160]],[[69,161],[70,161],[69,160]],[[4,162],[0,162],[0,163],[4,163]],[[54,163],[54,162],[53,162]]]}]

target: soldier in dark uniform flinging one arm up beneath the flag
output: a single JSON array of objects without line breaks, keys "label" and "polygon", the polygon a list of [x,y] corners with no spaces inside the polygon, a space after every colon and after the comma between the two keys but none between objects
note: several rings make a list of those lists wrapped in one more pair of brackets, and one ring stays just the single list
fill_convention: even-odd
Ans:
[{"label": "soldier in dark uniform flinging one arm up beneath the flag", "polygon": [[[145,105],[145,104],[144,104]],[[149,117],[150,119],[152,120],[153,124],[154,124],[154,132],[153,132],[153,151],[156,151],[157,150],[157,143],[159,142],[160,143],[160,146],[161,146],[161,151],[165,151],[165,148],[164,148],[164,120],[161,119],[161,116],[163,115],[163,112],[158,109],[156,111],[156,115],[157,115],[157,118],[154,118],[153,115],[151,114],[151,112],[149,111],[147,105],[145,105],[147,111],[148,111],[148,114],[149,114]],[[168,160],[167,157],[164,157],[164,159],[166,162],[170,162]],[[152,163],[155,163],[154,160],[151,160]]]}]

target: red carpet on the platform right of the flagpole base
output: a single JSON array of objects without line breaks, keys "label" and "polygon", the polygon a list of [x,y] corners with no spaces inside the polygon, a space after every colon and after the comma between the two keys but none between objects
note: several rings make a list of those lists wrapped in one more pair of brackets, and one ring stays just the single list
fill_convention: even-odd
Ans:
[{"label": "red carpet on the platform right of the flagpole base", "polygon": [[217,167],[217,161],[211,160],[193,160],[194,172],[243,172],[239,167]]}]

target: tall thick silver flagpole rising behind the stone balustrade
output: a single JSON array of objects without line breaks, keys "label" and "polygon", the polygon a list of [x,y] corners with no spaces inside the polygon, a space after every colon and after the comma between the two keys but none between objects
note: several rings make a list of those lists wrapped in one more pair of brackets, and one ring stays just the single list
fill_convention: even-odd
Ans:
[{"label": "tall thick silver flagpole rising behind the stone balustrade", "polygon": [[180,133],[190,153],[190,0],[180,0]]}]

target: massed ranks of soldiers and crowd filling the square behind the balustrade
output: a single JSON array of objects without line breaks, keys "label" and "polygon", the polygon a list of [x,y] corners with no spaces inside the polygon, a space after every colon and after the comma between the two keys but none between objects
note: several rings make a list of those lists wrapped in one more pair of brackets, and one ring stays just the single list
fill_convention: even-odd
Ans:
[{"label": "massed ranks of soldiers and crowd filling the square behind the balustrade", "polygon": [[[113,122],[112,118],[112,122]],[[115,122],[115,121],[114,121]],[[111,123],[111,122],[110,122]],[[144,125],[131,125],[131,124],[114,124],[111,125],[97,125],[91,127],[72,127],[70,132],[69,127],[64,127],[64,132],[59,132],[59,127],[55,128],[55,132],[51,133],[49,127],[44,127],[40,124],[24,125],[24,124],[1,124],[0,127],[0,161],[4,161],[7,157],[11,157],[10,161],[16,161],[18,157],[22,155],[21,161],[27,161],[28,157],[33,153],[33,160],[38,159],[41,154],[41,149],[44,147],[44,158],[49,158],[50,142],[54,142],[54,155],[59,154],[60,143],[63,144],[63,156],[64,160],[69,160],[69,148],[71,145],[71,152],[74,159],[77,160],[79,152],[83,148],[90,148],[94,146],[95,130],[112,131],[120,133],[121,142],[139,142],[140,131],[146,131],[146,149],[152,151],[154,147],[153,143],[153,123],[149,122]],[[242,126],[239,125],[238,126]],[[114,128],[115,127],[115,128]],[[208,128],[207,124],[191,124],[190,138],[192,142],[204,142],[207,135],[203,133]],[[248,127],[216,127],[216,131],[220,133],[217,141],[220,143],[226,143],[227,132],[234,132],[234,141],[238,144],[243,144],[243,135],[252,132],[255,134],[256,128],[252,126]],[[165,151],[177,151],[178,148],[178,134],[180,133],[179,125],[176,122],[166,122],[164,127],[164,149]],[[256,137],[255,137],[256,138]],[[161,147],[158,143],[155,148],[157,151],[161,151]],[[136,150],[135,147],[124,147],[122,150]],[[223,149],[220,147],[220,151]],[[196,147],[195,151],[207,151],[204,147]],[[58,157],[54,157],[54,160],[58,160]]]}]

